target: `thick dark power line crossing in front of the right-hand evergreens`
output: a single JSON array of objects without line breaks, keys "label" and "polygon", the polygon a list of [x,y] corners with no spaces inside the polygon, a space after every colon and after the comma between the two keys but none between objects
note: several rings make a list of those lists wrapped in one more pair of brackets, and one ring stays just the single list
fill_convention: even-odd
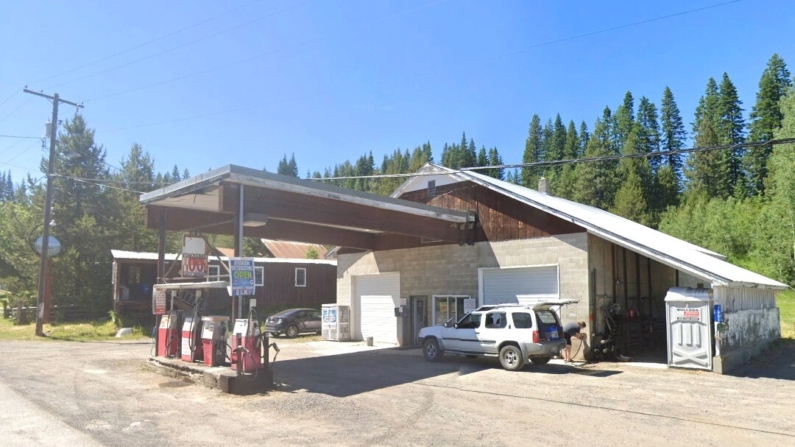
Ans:
[{"label": "thick dark power line crossing in front of the right-hand evergreens", "polygon": [[[450,171],[447,172],[461,173],[461,172],[479,171],[485,169],[514,169],[514,168],[529,168],[529,167],[539,167],[539,166],[557,166],[557,165],[577,164],[577,163],[620,161],[623,159],[654,158],[654,157],[663,157],[666,155],[692,154],[697,152],[737,149],[741,147],[776,146],[780,144],[793,144],[793,143],[795,143],[795,138],[779,138],[768,141],[724,144],[720,146],[694,147],[690,149],[678,149],[673,151],[641,152],[641,153],[626,154],[626,155],[605,155],[603,157],[571,158],[564,160],[536,161],[532,163],[516,163],[516,164],[503,164],[503,165],[493,165],[493,166],[472,166],[472,167],[459,168],[459,169],[450,169]],[[445,174],[447,172],[443,172],[441,174]],[[327,180],[356,180],[356,179],[379,179],[379,178],[408,178],[408,177],[420,177],[420,176],[429,176],[429,175],[440,175],[440,173],[416,172],[416,173],[406,173],[406,174],[375,174],[375,175],[357,175],[357,176],[345,176],[345,177],[310,178],[307,180],[327,181]]]}]

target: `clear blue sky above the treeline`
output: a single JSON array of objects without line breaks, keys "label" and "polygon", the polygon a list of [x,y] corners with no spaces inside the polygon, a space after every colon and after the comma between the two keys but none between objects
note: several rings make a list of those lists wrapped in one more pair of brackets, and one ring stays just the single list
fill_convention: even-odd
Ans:
[{"label": "clear blue sky above the treeline", "polygon": [[[627,90],[636,105],[645,95],[659,106],[670,86],[690,123],[707,79],[725,71],[750,112],[773,53],[795,71],[791,0],[541,45],[721,3],[6,1],[0,135],[44,133],[50,103],[22,93],[27,85],[83,102],[115,166],[139,143],[161,172],[275,171],[295,153],[303,177],[369,151],[380,164],[426,141],[438,161],[463,131],[519,163],[533,114],[592,128]],[[61,107],[60,118],[72,116]],[[41,177],[42,154],[37,140],[0,137],[0,171],[15,182]]]}]

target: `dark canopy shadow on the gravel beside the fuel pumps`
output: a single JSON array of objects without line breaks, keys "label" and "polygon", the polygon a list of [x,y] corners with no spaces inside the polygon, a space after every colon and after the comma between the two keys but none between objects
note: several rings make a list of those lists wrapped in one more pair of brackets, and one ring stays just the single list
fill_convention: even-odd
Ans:
[{"label": "dark canopy shadow on the gravel beside the fuel pumps", "polygon": [[[395,348],[277,361],[273,367],[273,379],[277,389],[281,391],[305,390],[311,393],[347,397],[444,374],[467,375],[487,369],[502,368],[496,359],[490,358],[466,359],[446,356],[438,363],[430,363],[425,361],[419,349]],[[543,366],[529,364],[517,373],[506,371],[506,374],[572,373],[609,377],[620,374],[621,371],[553,364]]]}]

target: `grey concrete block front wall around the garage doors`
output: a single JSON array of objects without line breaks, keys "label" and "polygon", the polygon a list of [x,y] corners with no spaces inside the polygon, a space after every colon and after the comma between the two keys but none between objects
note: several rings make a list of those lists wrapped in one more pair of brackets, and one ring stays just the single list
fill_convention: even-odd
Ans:
[{"label": "grey concrete block front wall around the garage doors", "polygon": [[[561,316],[588,321],[588,237],[586,233],[471,246],[440,245],[340,255],[337,302],[353,303],[353,276],[400,272],[400,296],[467,295],[479,297],[478,269],[557,264],[561,298],[578,299]],[[359,322],[353,322],[358,327]],[[353,332],[355,333],[355,332]]]}]

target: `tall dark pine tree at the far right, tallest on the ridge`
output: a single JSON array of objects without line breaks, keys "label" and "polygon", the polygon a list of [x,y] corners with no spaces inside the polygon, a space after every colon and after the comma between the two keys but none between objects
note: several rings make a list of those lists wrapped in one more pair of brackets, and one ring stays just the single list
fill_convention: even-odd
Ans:
[{"label": "tall dark pine tree at the far right, tallest on the ridge", "polygon": [[[748,135],[750,141],[769,141],[773,138],[784,118],[779,103],[790,87],[792,79],[787,64],[778,54],[773,54],[759,80],[756,104],[751,110]],[[753,147],[746,155],[745,167],[748,172],[750,193],[753,195],[765,193],[767,160],[772,151],[771,146]]]}]

